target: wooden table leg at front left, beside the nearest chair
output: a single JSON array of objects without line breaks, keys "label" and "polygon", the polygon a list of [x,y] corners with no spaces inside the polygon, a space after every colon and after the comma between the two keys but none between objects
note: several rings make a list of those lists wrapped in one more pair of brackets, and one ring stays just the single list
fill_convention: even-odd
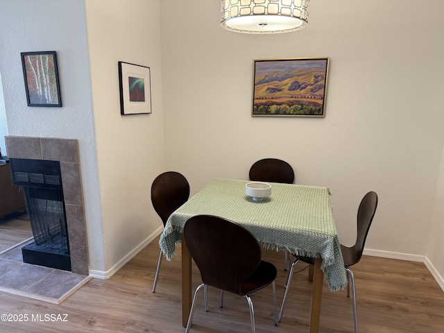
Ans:
[{"label": "wooden table leg at front left, beside the nearest chair", "polygon": [[191,309],[191,255],[182,234],[182,326],[187,327]]}]

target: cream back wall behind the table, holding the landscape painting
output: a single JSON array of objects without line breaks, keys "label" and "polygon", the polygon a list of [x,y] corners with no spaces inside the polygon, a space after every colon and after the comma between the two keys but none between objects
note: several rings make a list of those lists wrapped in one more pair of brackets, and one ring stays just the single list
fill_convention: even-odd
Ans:
[{"label": "cream back wall behind the table, holding the landscape painting", "polygon": [[[311,1],[308,27],[280,35],[224,31],[219,3],[161,3],[167,167],[195,193],[248,178],[262,157],[287,160],[296,182],[330,187],[344,244],[362,196],[377,191],[366,248],[423,258],[444,142],[444,2]],[[325,118],[250,116],[253,59],[323,56]]]}]

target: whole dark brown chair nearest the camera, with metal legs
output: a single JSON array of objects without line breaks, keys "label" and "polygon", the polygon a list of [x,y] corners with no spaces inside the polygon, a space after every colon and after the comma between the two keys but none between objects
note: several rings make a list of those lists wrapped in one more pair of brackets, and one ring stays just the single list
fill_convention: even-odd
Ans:
[{"label": "whole dark brown chair nearest the camera, with metal legs", "polygon": [[254,333],[255,316],[250,294],[271,284],[275,325],[278,324],[274,282],[277,271],[273,264],[261,260],[261,248],[253,234],[221,217],[198,215],[185,223],[184,236],[203,282],[194,293],[185,332],[191,327],[198,293],[206,286],[245,296]]}]

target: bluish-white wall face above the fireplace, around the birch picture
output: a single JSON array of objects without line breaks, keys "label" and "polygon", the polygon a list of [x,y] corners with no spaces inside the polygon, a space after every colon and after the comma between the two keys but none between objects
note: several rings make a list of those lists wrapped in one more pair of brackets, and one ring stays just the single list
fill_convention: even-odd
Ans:
[{"label": "bluish-white wall face above the fireplace, around the birch picture", "polygon": [[[26,19],[24,19],[26,17]],[[8,134],[78,139],[89,259],[103,267],[103,238],[83,1],[0,3],[0,72]],[[20,52],[56,51],[62,108],[26,105]]]}]

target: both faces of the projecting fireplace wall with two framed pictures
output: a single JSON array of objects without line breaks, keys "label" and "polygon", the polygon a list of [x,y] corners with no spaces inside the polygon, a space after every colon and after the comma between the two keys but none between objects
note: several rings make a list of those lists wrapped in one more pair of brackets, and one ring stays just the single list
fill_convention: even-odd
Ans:
[{"label": "both faces of the projecting fireplace wall with two framed pictures", "polygon": [[[98,278],[162,230],[149,195],[164,171],[159,18],[158,0],[0,3],[9,135],[78,139],[90,273]],[[57,52],[62,108],[26,105],[24,51]],[[151,67],[153,114],[121,117],[119,60]]]}]

